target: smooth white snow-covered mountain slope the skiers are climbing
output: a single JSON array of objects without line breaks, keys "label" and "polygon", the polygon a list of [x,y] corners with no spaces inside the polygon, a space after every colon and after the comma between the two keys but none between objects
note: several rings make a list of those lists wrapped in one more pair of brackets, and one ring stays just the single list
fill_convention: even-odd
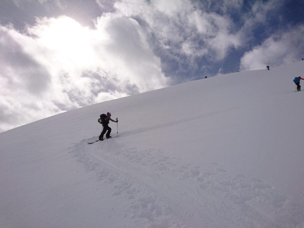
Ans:
[{"label": "smooth white snow-covered mountain slope the skiers are climbing", "polygon": [[[1,133],[0,227],[304,227],[303,72],[219,75]],[[106,112],[120,136],[88,144]]]}]

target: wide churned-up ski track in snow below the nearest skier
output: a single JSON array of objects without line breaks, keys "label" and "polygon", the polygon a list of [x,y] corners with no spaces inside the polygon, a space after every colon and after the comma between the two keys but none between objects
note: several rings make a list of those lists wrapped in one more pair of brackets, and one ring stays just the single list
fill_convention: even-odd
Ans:
[{"label": "wide churned-up ski track in snow below the nearest skier", "polygon": [[112,197],[126,201],[123,216],[134,227],[303,227],[303,208],[259,178],[233,174],[217,162],[184,164],[160,148],[88,141],[70,153],[112,189]]}]

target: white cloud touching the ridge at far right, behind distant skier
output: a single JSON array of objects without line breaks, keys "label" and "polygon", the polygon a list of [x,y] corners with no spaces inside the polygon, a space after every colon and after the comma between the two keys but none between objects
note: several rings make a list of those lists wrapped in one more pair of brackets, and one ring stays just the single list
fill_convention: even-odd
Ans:
[{"label": "white cloud touching the ridge at far right, behind distant skier", "polygon": [[304,50],[304,25],[279,31],[271,35],[260,46],[246,52],[240,60],[240,70],[264,69],[279,66],[302,58]]}]

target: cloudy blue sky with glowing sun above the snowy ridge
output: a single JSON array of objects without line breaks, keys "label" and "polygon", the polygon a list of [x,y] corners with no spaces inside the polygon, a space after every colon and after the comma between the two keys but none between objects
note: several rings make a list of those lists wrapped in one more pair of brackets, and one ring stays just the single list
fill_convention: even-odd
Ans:
[{"label": "cloudy blue sky with glowing sun above the snowy ridge", "polygon": [[299,61],[303,11],[300,0],[2,0],[0,132],[205,76]]}]

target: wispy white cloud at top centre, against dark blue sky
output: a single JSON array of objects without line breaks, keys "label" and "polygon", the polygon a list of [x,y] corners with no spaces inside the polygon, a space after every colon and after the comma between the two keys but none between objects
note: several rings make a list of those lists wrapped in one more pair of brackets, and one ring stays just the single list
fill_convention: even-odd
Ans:
[{"label": "wispy white cloud at top centre, against dark blue sky", "polygon": [[192,1],[122,0],[114,6],[127,17],[144,20],[168,52],[197,57],[209,55],[218,60],[227,55],[230,47],[237,48],[242,43],[228,17],[204,12]]}]

